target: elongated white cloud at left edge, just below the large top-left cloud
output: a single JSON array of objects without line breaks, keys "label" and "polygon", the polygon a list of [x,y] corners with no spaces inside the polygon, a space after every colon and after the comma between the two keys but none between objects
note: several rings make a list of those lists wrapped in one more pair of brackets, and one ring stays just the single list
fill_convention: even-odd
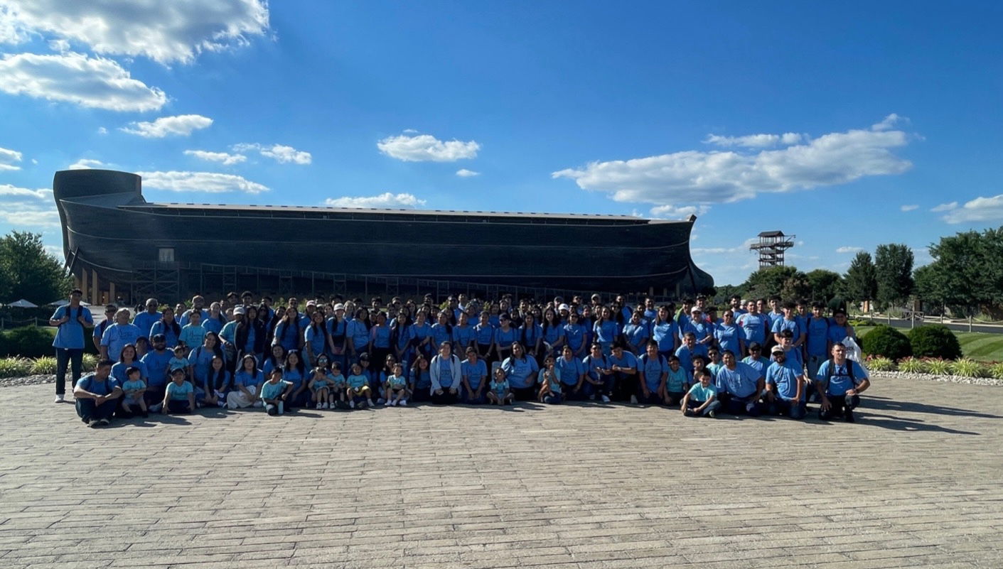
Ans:
[{"label": "elongated white cloud at left edge, just below the large top-left cloud", "polygon": [[0,90],[115,111],[155,110],[168,102],[156,87],[132,79],[118,63],[80,53],[18,53],[0,59]]}]

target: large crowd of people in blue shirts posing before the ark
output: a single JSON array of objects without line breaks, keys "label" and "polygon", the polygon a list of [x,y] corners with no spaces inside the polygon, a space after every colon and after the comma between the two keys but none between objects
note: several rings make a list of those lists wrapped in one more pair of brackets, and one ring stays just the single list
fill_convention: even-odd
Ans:
[{"label": "large crowd of people in blue shirts posing before the ark", "polygon": [[[678,408],[690,416],[770,414],[854,421],[870,387],[848,357],[854,331],[842,310],[803,301],[703,296],[680,307],[623,297],[605,304],[561,297],[292,298],[230,294],[207,306],[134,311],[109,305],[94,326],[80,291],[49,322],[58,327],[56,402],[67,372],[90,427],[113,417],[191,413],[199,407],[358,409],[611,401]],[[718,316],[720,313],[720,317]],[[81,378],[86,329],[100,359]]]}]

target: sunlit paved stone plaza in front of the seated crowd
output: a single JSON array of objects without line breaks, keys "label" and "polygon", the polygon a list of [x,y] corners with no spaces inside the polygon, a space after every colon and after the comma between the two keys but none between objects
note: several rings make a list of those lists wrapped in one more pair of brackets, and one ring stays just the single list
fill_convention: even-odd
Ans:
[{"label": "sunlit paved stone plaza in front of the seated crowd", "polygon": [[0,390],[14,567],[1003,567],[1003,389],[880,379],[854,425],[568,405],[85,428]]}]

